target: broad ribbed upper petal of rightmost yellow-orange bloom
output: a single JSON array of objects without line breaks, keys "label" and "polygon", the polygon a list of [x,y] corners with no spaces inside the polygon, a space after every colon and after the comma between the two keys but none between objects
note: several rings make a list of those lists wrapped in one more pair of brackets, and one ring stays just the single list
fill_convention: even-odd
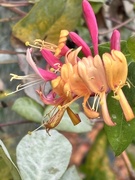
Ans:
[{"label": "broad ribbed upper petal of rightmost yellow-orange bloom", "polygon": [[104,53],[103,62],[110,89],[117,90],[118,87],[123,87],[128,73],[127,61],[124,54],[117,50],[112,50],[111,54]]}]

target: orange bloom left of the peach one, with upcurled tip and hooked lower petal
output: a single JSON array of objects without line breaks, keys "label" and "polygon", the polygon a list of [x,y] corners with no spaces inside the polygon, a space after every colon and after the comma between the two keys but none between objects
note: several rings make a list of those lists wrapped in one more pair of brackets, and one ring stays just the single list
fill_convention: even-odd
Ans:
[{"label": "orange bloom left of the peach one, with upcurled tip and hooked lower petal", "polygon": [[88,103],[88,98],[91,95],[91,91],[79,77],[77,71],[77,55],[80,50],[81,48],[78,48],[75,51],[69,51],[66,54],[65,64],[61,67],[60,76],[51,81],[52,89],[62,100],[61,108],[67,108],[75,100],[84,97],[83,108],[85,114],[89,118],[97,118],[99,113],[86,105],[86,103]]}]

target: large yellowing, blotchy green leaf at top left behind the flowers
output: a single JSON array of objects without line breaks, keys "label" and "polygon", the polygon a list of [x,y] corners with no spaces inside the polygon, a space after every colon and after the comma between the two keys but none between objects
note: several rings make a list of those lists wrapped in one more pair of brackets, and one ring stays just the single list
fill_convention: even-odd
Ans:
[{"label": "large yellowing, blotchy green leaf at top left behind the flowers", "polygon": [[13,27],[23,42],[44,39],[57,44],[62,29],[73,30],[81,17],[81,0],[40,0],[29,14]]}]

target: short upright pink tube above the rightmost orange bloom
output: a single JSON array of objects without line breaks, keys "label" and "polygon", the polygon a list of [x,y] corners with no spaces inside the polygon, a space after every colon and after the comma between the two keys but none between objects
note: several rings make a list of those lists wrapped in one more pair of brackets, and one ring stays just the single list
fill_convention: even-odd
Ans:
[{"label": "short upright pink tube above the rightmost orange bloom", "polygon": [[120,32],[118,30],[114,30],[111,37],[111,50],[120,51]]}]

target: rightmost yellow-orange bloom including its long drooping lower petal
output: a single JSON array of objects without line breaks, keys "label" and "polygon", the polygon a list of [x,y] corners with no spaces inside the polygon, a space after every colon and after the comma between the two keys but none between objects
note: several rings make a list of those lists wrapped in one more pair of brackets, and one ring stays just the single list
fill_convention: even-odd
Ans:
[{"label": "rightmost yellow-orange bloom including its long drooping lower petal", "polygon": [[103,62],[108,86],[114,91],[113,97],[119,100],[126,120],[130,121],[135,116],[121,89],[126,84],[128,73],[126,58],[122,52],[112,50],[111,54],[103,54]]}]

